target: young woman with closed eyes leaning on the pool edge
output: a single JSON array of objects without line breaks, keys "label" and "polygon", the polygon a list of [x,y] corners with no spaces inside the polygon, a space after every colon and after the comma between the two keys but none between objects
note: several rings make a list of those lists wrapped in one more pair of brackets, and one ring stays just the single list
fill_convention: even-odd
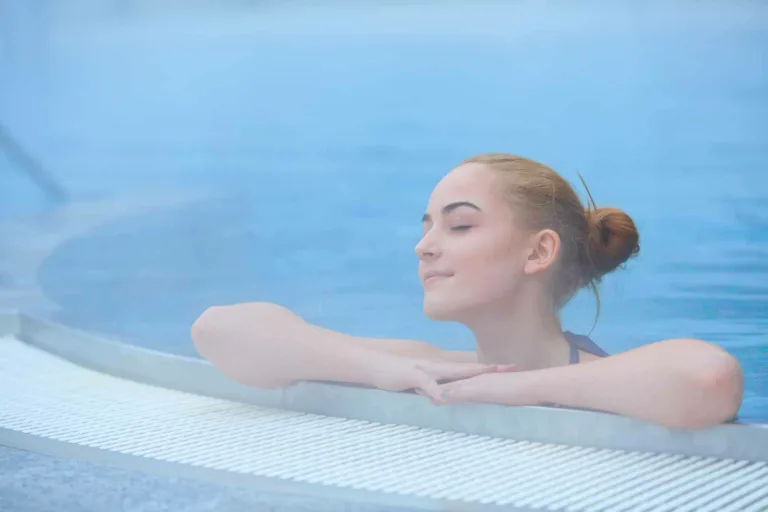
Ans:
[{"label": "young woman with closed eyes leaning on the pool edge", "polygon": [[585,208],[555,171],[506,154],[466,160],[435,187],[416,246],[424,311],[461,322],[474,352],[358,338],[269,303],[215,306],[192,326],[200,354],[264,388],[301,380],[415,390],[436,404],[559,404],[669,427],[727,421],[741,404],[738,362],[718,346],[670,339],[609,356],[563,332],[558,311],[639,250],[632,219]]}]

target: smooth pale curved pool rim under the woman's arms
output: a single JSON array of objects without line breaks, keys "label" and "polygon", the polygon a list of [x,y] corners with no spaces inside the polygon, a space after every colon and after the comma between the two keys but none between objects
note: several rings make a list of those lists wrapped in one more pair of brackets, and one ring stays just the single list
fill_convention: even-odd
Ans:
[{"label": "smooth pale curved pool rim under the woman's arms", "polygon": [[570,446],[768,461],[768,425],[672,429],[573,409],[493,404],[437,407],[412,393],[328,382],[262,390],[226,378],[202,359],[128,345],[21,311],[0,311],[3,335],[115,377],[263,407]]}]

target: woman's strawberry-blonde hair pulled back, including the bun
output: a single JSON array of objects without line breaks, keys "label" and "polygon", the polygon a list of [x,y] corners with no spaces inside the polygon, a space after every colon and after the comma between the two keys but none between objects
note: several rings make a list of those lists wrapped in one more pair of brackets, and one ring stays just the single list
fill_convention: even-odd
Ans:
[{"label": "woman's strawberry-blonde hair pulled back, including the bun", "polygon": [[[585,207],[573,187],[549,167],[521,156],[489,153],[468,158],[501,178],[515,212],[530,229],[551,229],[560,237],[560,256],[553,275],[558,307],[580,289],[590,287],[597,300],[597,284],[640,251],[640,235],[632,218],[618,208],[598,208],[587,189]],[[582,179],[586,188],[586,183]]]}]

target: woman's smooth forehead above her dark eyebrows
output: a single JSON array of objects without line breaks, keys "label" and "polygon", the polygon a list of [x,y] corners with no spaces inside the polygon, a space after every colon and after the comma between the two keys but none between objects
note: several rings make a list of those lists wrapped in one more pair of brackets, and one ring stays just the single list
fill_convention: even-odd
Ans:
[{"label": "woman's smooth forehead above her dark eyebrows", "polygon": [[483,210],[500,206],[499,182],[496,176],[483,164],[468,163],[446,174],[435,186],[429,198],[428,210],[439,210],[443,206],[469,201]]}]

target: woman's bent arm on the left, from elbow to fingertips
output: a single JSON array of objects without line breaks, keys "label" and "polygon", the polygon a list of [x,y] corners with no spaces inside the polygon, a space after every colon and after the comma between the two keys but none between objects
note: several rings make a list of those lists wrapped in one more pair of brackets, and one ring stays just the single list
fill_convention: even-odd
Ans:
[{"label": "woman's bent arm on the left, from elbow to fingertips", "polygon": [[[356,338],[304,321],[269,303],[216,306],[192,325],[200,355],[223,374],[262,388],[324,380],[402,390],[494,371],[453,362],[427,343]],[[434,391],[434,388],[432,388]]]}]

